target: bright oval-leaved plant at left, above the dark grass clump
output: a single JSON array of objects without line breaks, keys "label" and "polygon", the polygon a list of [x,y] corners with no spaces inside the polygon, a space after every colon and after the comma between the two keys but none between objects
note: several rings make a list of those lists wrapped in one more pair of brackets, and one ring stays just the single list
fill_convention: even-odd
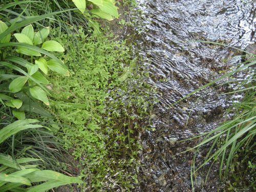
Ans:
[{"label": "bright oval-leaved plant at left, above the dark grass clump", "polygon": [[[5,28],[6,25],[3,22],[1,24]],[[5,28],[5,30],[8,30],[8,28],[7,29]],[[40,34],[43,33],[41,38],[41,43],[42,43],[41,49],[45,49],[47,51],[57,51],[57,52],[64,51],[63,47],[57,41],[54,41],[54,40],[48,40],[45,42],[42,41],[43,39],[47,38],[47,35],[49,34],[48,31],[49,31],[49,28],[45,28],[45,30],[40,30],[39,32],[34,33],[33,26],[29,25],[23,28],[22,33],[14,34],[15,38],[18,40],[19,43],[25,43],[24,45],[25,47],[26,47],[26,44],[29,44],[32,46],[32,47],[25,48],[25,47],[19,47],[19,44],[17,44],[17,49],[16,49],[17,53],[31,56],[30,58],[27,58],[31,60],[30,62],[22,59],[21,57],[11,56],[12,55],[11,52],[8,53],[8,52],[5,52],[4,50],[1,52],[2,61],[0,61],[2,65],[5,65],[7,68],[9,67],[25,75],[25,76],[17,77],[10,82],[9,90],[12,93],[17,93],[20,91],[26,93],[25,86],[26,86],[26,83],[28,83],[28,86],[30,87],[29,92],[31,96],[35,99],[43,101],[46,105],[49,105],[49,101],[47,98],[48,91],[46,90],[46,88],[43,87],[43,84],[48,84],[48,81],[44,77],[44,75],[42,75],[38,70],[42,69],[43,72],[46,72],[46,71],[48,72],[48,68],[49,68],[50,70],[52,69],[57,73],[63,74],[63,71],[65,71],[65,74],[68,73],[68,70],[62,67],[63,64],[61,63],[62,65],[60,65],[60,63],[58,63],[57,60],[50,59],[49,61],[51,63],[55,63],[54,66],[58,66],[58,67],[54,67],[51,63],[50,63],[51,65],[49,65],[48,67],[48,62],[46,61],[46,57],[45,58],[33,57],[33,56],[41,56],[39,52],[35,51],[35,46],[33,46],[34,36],[35,34],[38,34],[38,33]],[[38,40],[36,44],[38,45]],[[12,63],[9,63],[11,59],[15,59],[15,62],[24,68],[19,68],[17,66],[14,66]],[[37,65],[37,63],[39,63],[40,67]],[[24,70],[27,70],[27,72],[25,72]],[[5,70],[3,70],[2,72],[2,76],[9,75],[9,74],[5,74],[4,71]],[[36,84],[38,84],[39,87],[36,86]],[[13,95],[9,95],[9,96],[14,97]],[[6,102],[6,105],[19,109],[20,106],[22,105],[22,102],[20,101],[19,103],[17,103],[17,101],[18,101],[17,99],[8,99]]]}]

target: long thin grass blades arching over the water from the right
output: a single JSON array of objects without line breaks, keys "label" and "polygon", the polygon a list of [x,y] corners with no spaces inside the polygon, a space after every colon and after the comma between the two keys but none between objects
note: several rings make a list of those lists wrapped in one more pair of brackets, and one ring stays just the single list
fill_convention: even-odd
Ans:
[{"label": "long thin grass blades arching over the water from the right", "polygon": [[[223,44],[217,44],[214,42],[207,42],[207,41],[200,41],[209,44],[221,45],[226,46]],[[230,47],[230,46],[228,46]],[[237,49],[237,48],[233,48]],[[237,49],[239,51],[243,51]],[[219,86],[228,83],[236,82],[236,89],[229,93],[225,94],[240,94],[243,96],[243,99],[239,102],[234,102],[230,109],[226,111],[226,114],[233,114],[232,117],[227,117],[226,120],[221,123],[215,130],[210,132],[201,134],[194,138],[203,138],[203,140],[191,148],[190,150],[196,150],[194,161],[191,166],[191,184],[194,190],[194,178],[196,179],[196,173],[198,170],[208,164],[218,163],[219,164],[219,177],[220,179],[226,181],[230,179],[231,173],[234,172],[247,172],[247,168],[245,170],[237,170],[233,168],[234,165],[239,164],[238,161],[245,163],[255,163],[253,157],[247,156],[246,153],[255,153],[255,124],[256,124],[256,111],[255,111],[255,68],[254,65],[256,63],[256,55],[246,52],[247,55],[250,56],[250,59],[246,60],[245,62],[241,63],[237,66],[236,69],[224,74],[220,78],[217,78],[205,86],[195,90],[194,92],[188,94],[186,97],[182,98],[181,100],[187,98],[190,95],[195,94],[207,87],[212,86],[214,83],[219,83]],[[242,81],[223,81],[227,77],[231,77],[232,75],[236,74],[237,72],[243,72],[247,75],[247,78],[243,79]],[[204,157],[204,161],[201,165],[196,166],[196,157],[197,154],[206,146],[210,144],[210,147],[207,150],[207,154]],[[190,151],[188,150],[188,151]],[[254,150],[254,152],[250,152]],[[246,153],[243,153],[246,152]],[[184,152],[182,152],[184,153]],[[236,161],[235,161],[236,160]],[[255,166],[255,164],[254,164]],[[210,169],[210,168],[209,168]],[[209,172],[208,172],[209,173]],[[206,176],[206,181],[207,181]],[[244,179],[240,178],[239,179]],[[205,181],[205,182],[206,182]],[[252,187],[254,180],[250,181]],[[245,183],[244,183],[245,184]]]}]

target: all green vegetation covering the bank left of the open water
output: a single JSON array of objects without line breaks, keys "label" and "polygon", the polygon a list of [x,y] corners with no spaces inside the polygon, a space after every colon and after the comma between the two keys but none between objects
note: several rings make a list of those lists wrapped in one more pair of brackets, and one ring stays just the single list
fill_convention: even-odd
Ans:
[{"label": "all green vegetation covering the bank left of the open water", "polygon": [[134,188],[154,102],[139,59],[94,20],[118,17],[115,2],[5,1],[0,10],[0,190]]}]

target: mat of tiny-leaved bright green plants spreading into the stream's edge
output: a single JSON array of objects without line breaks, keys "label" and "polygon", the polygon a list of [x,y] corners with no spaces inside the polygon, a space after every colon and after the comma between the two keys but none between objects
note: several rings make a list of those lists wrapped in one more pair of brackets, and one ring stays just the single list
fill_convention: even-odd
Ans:
[{"label": "mat of tiny-leaved bright green plants spreading into the stream's edge", "polygon": [[75,42],[58,29],[53,35],[65,45],[67,52],[59,57],[71,76],[51,74],[49,110],[79,160],[80,177],[88,190],[111,190],[114,183],[132,189],[137,184],[139,131],[153,103],[151,88],[143,83],[146,74],[136,73],[136,60],[125,42],[95,39],[82,29]]}]

